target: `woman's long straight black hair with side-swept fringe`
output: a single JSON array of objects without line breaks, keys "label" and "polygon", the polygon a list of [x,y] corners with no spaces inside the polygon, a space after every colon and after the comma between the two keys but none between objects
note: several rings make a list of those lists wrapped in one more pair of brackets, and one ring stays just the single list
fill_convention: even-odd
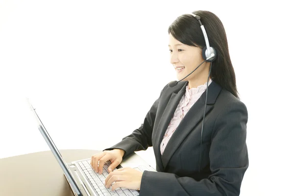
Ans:
[{"label": "woman's long straight black hair with side-swept fringe", "polygon": [[[210,77],[221,85],[222,88],[239,98],[236,76],[230,59],[226,33],[221,20],[212,12],[195,11],[193,14],[200,16],[210,47],[217,51],[217,58],[212,63]],[[168,29],[169,34],[179,42],[188,46],[204,48],[205,40],[198,20],[191,14],[179,16]]]}]

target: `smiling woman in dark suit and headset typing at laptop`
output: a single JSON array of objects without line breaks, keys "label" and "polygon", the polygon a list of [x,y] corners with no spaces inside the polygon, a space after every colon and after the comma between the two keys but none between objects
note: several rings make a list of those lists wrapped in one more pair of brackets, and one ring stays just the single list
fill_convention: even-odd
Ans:
[{"label": "smiling woman in dark suit and headset typing at laptop", "polygon": [[[215,51],[205,48],[201,25]],[[112,190],[140,190],[140,196],[239,196],[248,168],[247,109],[238,98],[224,27],[215,14],[196,11],[178,17],[168,32],[177,78],[188,76],[166,85],[141,127],[93,155],[91,166],[101,173],[110,160],[105,186],[115,182]],[[125,156],[150,146],[157,172],[111,172]]]}]

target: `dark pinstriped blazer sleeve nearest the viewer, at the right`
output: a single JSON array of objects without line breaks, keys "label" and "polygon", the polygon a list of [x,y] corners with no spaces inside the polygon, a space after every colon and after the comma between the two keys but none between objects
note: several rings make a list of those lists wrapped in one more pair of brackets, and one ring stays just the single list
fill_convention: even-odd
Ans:
[{"label": "dark pinstriped blazer sleeve nearest the viewer, at the right", "polygon": [[239,196],[248,168],[247,118],[241,101],[230,103],[218,115],[209,151],[212,174],[208,178],[196,181],[173,173],[144,171],[140,196]]}]

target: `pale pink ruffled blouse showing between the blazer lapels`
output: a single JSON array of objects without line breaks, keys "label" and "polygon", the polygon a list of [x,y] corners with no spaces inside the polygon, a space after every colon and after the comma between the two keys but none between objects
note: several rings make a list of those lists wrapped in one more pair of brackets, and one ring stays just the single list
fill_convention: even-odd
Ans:
[{"label": "pale pink ruffled blouse showing between the blazer lapels", "polygon": [[[210,85],[212,80],[210,79],[208,82],[208,85]],[[172,137],[172,134],[174,130],[177,128],[181,120],[184,118],[184,116],[187,114],[189,109],[194,105],[194,103],[200,98],[202,93],[206,90],[207,82],[205,84],[202,84],[200,86],[197,86],[197,88],[189,89],[189,85],[186,87],[186,92],[181,98],[177,108],[175,109],[175,112],[172,116],[171,123],[169,124],[166,133],[163,136],[163,140],[160,144],[160,152],[163,153],[165,147],[167,146],[169,140]],[[178,130],[180,131],[180,130]]]}]

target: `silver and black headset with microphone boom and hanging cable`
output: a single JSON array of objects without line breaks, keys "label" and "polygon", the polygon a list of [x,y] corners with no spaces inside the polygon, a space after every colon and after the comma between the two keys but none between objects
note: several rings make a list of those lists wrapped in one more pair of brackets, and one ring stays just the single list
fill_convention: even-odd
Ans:
[{"label": "silver and black headset with microphone boom and hanging cable", "polygon": [[[202,127],[201,127],[201,138],[200,138],[200,154],[199,154],[199,164],[198,164],[198,172],[200,172],[200,163],[201,163],[201,152],[202,152],[202,135],[203,135],[203,128],[204,128],[204,118],[205,118],[205,110],[206,110],[206,103],[207,103],[207,94],[208,94],[208,82],[209,82],[209,76],[210,76],[210,73],[211,73],[211,68],[212,68],[212,62],[214,60],[216,60],[217,58],[217,51],[216,49],[214,49],[213,47],[210,47],[209,45],[209,40],[208,40],[208,37],[207,37],[207,34],[206,34],[206,31],[205,31],[205,28],[204,26],[202,25],[201,21],[200,21],[200,16],[196,15],[196,14],[193,14],[193,13],[189,13],[191,14],[192,16],[194,16],[197,21],[199,22],[200,24],[200,28],[202,30],[202,33],[203,33],[203,36],[204,36],[204,40],[205,40],[205,47],[202,49],[202,57],[203,59],[205,59],[203,62],[201,62],[195,70],[193,70],[193,72],[195,72],[199,67],[200,65],[202,65],[204,62],[208,61],[208,62],[211,62],[211,65],[210,65],[210,70],[209,70],[209,73],[208,73],[208,77],[207,77],[207,86],[206,86],[206,97],[205,97],[205,105],[204,105],[204,112],[203,112],[203,119],[202,119]],[[188,77],[190,74],[192,74],[193,72],[189,73],[186,77]],[[184,77],[183,79],[185,79],[186,77]],[[177,85],[178,82],[182,81],[183,79],[179,80],[179,81],[172,81],[169,83],[169,86],[170,87],[174,87],[175,85]]]}]

